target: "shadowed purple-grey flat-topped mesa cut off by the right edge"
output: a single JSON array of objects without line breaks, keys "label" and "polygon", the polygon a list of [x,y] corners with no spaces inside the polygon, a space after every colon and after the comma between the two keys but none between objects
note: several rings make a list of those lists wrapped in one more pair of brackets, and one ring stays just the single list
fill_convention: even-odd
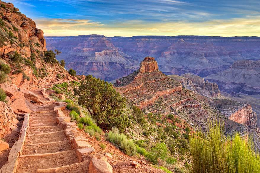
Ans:
[{"label": "shadowed purple-grey flat-topped mesa cut off by the right edge", "polygon": [[260,94],[260,61],[240,60],[223,72],[205,77],[227,93]]}]

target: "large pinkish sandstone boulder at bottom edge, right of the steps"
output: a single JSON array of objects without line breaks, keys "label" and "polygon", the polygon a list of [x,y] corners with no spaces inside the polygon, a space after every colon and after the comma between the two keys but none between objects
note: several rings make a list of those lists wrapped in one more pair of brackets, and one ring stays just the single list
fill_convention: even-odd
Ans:
[{"label": "large pinkish sandstone boulder at bottom edge, right of the steps", "polygon": [[113,173],[113,168],[108,162],[93,158],[89,164],[89,173]]}]

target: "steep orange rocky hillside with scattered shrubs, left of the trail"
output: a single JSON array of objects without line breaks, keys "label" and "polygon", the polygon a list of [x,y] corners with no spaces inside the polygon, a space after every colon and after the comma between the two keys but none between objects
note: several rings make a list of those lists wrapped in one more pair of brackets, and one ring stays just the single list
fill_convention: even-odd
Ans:
[{"label": "steep orange rocky hillside with scattered shrubs, left of the trail", "polygon": [[[0,1],[0,87],[6,93],[0,101],[0,138],[10,130],[18,130],[16,114],[30,113],[31,102],[42,103],[33,91],[49,87],[56,82],[78,80],[59,64],[44,62],[46,40],[41,29],[12,3]],[[10,72],[2,75],[2,66]],[[7,70],[8,71],[8,70]],[[60,74],[60,77],[57,77]],[[4,79],[5,78],[5,79]],[[45,92],[39,90],[37,92]]]}]

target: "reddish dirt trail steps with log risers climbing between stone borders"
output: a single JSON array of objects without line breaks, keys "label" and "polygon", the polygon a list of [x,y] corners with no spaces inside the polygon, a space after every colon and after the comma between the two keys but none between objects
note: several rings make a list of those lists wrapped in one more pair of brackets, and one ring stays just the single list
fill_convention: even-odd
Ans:
[{"label": "reddish dirt trail steps with log risers climbing between stone borders", "polygon": [[57,103],[40,105],[30,114],[17,173],[88,172],[88,164],[86,161],[79,162],[76,150],[72,149],[66,138],[65,130],[57,125],[55,106]]}]

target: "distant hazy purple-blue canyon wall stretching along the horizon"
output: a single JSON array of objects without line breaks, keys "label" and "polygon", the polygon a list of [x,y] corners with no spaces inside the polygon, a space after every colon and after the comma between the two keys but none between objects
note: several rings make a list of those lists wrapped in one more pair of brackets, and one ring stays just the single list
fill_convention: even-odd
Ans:
[{"label": "distant hazy purple-blue canyon wall stretching along the horizon", "polygon": [[[86,64],[88,68],[77,69],[77,62],[111,62],[111,55],[103,50],[116,50],[117,58],[113,62],[123,68],[115,69],[116,77],[107,77],[106,69],[110,64],[100,64],[96,76],[100,74],[106,80],[116,79],[137,69],[138,62],[145,56],[153,56],[159,69],[165,74],[194,73],[201,77],[216,72],[222,72],[237,61],[243,59],[259,59],[259,37],[208,37],[208,36],[133,36],[105,37],[103,35],[79,35],[78,37],[46,37],[47,48],[57,48],[63,53],[60,59],[68,62],[68,67],[75,68],[80,74],[90,74],[91,67],[96,64]],[[95,52],[99,52],[100,58]],[[120,59],[126,59],[126,62]],[[108,60],[107,60],[108,59]],[[131,63],[129,63],[129,61]],[[70,64],[73,63],[73,64]],[[125,71],[127,69],[127,72]]]}]

